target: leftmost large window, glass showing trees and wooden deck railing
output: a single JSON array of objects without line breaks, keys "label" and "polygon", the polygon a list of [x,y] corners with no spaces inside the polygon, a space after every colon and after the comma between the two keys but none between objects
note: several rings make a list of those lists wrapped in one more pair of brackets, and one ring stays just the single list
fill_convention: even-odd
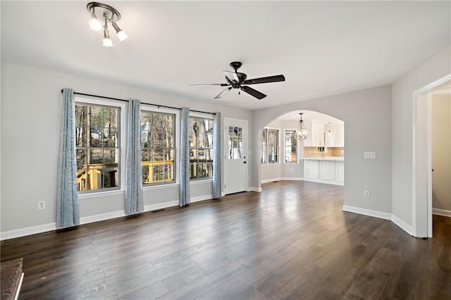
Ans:
[{"label": "leftmost large window, glass showing trees and wooden deck railing", "polygon": [[121,108],[75,104],[77,189],[119,189]]}]

